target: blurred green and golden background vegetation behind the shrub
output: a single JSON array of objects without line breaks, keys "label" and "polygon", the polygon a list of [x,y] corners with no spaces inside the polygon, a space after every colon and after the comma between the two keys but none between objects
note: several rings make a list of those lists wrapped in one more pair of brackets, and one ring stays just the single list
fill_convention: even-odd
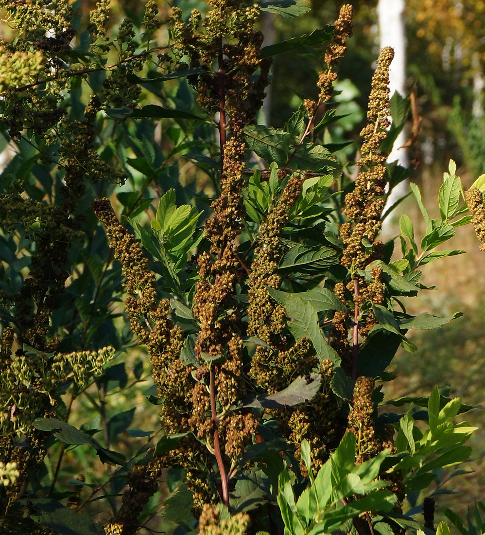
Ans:
[{"label": "blurred green and golden background vegetation behind the shrub", "polygon": [[[95,3],[94,0],[77,0],[73,3],[79,9],[80,27],[86,26],[89,11]],[[186,16],[195,7],[201,11],[206,7],[205,2],[198,0],[181,0],[173,4],[181,7]],[[337,114],[348,115],[338,121],[331,132],[325,134],[328,136],[327,140],[324,138],[326,142],[352,142],[342,149],[347,156],[352,155],[358,147],[358,133],[363,125],[374,62],[379,53],[377,4],[375,1],[366,0],[359,0],[355,4],[354,35],[341,62],[333,101]],[[304,16],[292,19],[291,24],[265,13],[260,22],[261,30],[266,35],[265,44],[308,34],[315,28],[332,24],[340,6],[341,2],[336,0],[312,0],[311,9]],[[166,19],[170,6],[160,2],[159,8],[161,18]],[[134,21],[135,28],[139,28],[143,9],[144,4],[137,0],[113,0],[110,24],[116,28],[127,16]],[[426,204],[436,206],[437,203],[433,199],[436,198],[442,182],[442,170],[448,166],[450,157],[457,162],[457,174],[463,178],[465,187],[485,172],[485,84],[482,74],[485,71],[485,2],[407,0],[404,18],[407,36],[407,89],[414,91],[417,111],[421,117],[417,139],[409,149],[411,165],[414,168],[411,179],[418,182],[424,190]],[[166,41],[165,31],[164,27],[158,30],[158,41],[161,43]],[[11,30],[2,25],[0,35],[10,39]],[[258,118],[259,123],[268,121],[275,127],[281,127],[304,98],[314,98],[317,95],[315,82],[322,66],[322,55],[322,50],[303,48],[275,57],[272,68],[275,82],[271,85],[264,113]],[[116,61],[116,58],[113,58],[113,61]],[[151,77],[153,73],[138,75]],[[161,98],[172,108],[191,112],[196,110],[193,93],[184,78],[164,83],[163,91],[155,86],[145,87],[147,90],[141,96],[141,104],[150,104]],[[75,97],[79,102],[86,100],[82,91]],[[75,114],[75,103],[71,105],[72,113]],[[134,213],[138,213],[143,218],[143,210],[151,203],[152,198],[159,197],[163,190],[170,187],[175,188],[179,204],[190,202],[195,197],[198,208],[207,209],[204,197],[213,194],[213,167],[200,140],[205,140],[207,147],[212,145],[215,142],[213,128],[204,123],[195,130],[187,131],[184,129],[186,126],[183,120],[166,120],[161,124],[153,124],[148,120],[141,120],[136,124],[107,120],[106,124],[99,128],[99,154],[106,161],[118,161],[120,172],[126,173],[128,177],[125,186],[117,190],[117,199],[113,199],[117,204],[119,216],[134,217]],[[130,129],[137,129],[135,135],[132,135]],[[136,144],[130,142],[130,139],[135,137],[146,141]],[[4,151],[1,158],[5,166],[12,157],[12,151],[6,148],[6,137],[0,145],[0,149]],[[191,146],[197,146],[197,154],[190,152]],[[21,151],[24,156],[10,162],[5,173],[25,172],[25,167],[21,166],[25,164],[32,150],[25,142],[21,144]],[[127,157],[130,162],[127,162]],[[35,171],[35,166],[31,169]],[[349,169],[348,172],[351,173],[352,170]],[[144,175],[152,179],[155,177],[156,181],[144,184]],[[163,184],[163,190],[158,188],[157,184]],[[93,187],[96,189],[96,185]],[[113,189],[114,185],[107,185],[105,190],[95,190],[93,193],[98,197],[109,196]],[[142,192],[141,198],[138,198],[135,192]],[[144,205],[144,202],[148,204]],[[403,211],[409,213],[415,226],[419,228],[422,224],[421,218],[417,209],[413,208],[413,203],[408,204],[405,201],[397,209],[396,221]],[[96,225],[96,221],[91,221],[91,224]],[[396,227],[395,234],[397,233]],[[104,235],[98,238],[105,239]],[[434,384],[450,384],[451,394],[460,395],[466,403],[483,402],[485,264],[471,226],[460,227],[454,240],[455,243],[450,243],[449,248],[465,249],[467,254],[436,263],[436,267],[435,264],[426,266],[422,282],[425,285],[436,285],[440,292],[422,292],[424,295],[421,301],[413,303],[413,310],[410,312],[417,314],[426,310],[448,315],[456,310],[463,310],[465,315],[440,330],[414,336],[413,342],[419,349],[417,353],[406,353],[397,360],[396,371],[402,379],[399,384],[386,385],[388,396],[417,395],[429,391]],[[158,429],[158,408],[147,402],[150,397],[151,379],[147,365],[143,364],[147,359],[141,358],[143,349],[137,347],[125,351],[128,347],[135,346],[136,342],[130,338],[127,328],[124,327],[126,321],[123,323],[123,307],[119,302],[103,301],[103,286],[97,279],[98,273],[103,274],[103,281],[109,281],[110,288],[106,287],[106,295],[111,295],[113,287],[117,287],[115,294],[117,293],[121,300],[119,265],[115,262],[112,268],[108,268],[111,258],[106,258],[104,265],[95,265],[94,255],[89,259],[89,254],[90,250],[96,251],[96,247],[95,240],[85,252],[88,256],[83,259],[84,265],[88,266],[89,270],[80,271],[78,279],[73,281],[70,294],[79,294],[76,285],[82,285],[84,293],[81,301],[76,303],[80,316],[79,327],[76,328],[79,328],[80,332],[74,332],[73,328],[72,335],[84,336],[88,341],[91,340],[93,347],[101,347],[103,337],[112,340],[111,331],[117,330],[119,345],[116,349],[119,356],[84,395],[76,397],[72,407],[69,401],[65,400],[66,410],[71,412],[70,422],[73,425],[81,426],[86,431],[102,429],[103,431],[98,432],[104,433],[106,444],[109,445],[116,439],[117,450],[131,458],[138,454],[138,449],[142,449],[153,436],[153,431]],[[87,304],[93,300],[99,304],[99,317],[91,318],[88,324],[82,318],[83,300]],[[75,323],[73,318],[73,324]],[[68,338],[66,340],[63,350],[69,350]],[[139,383],[141,388],[129,388],[134,383]],[[140,392],[145,392],[145,395]],[[156,403],[156,400],[152,401]],[[136,421],[141,422],[138,424],[141,429],[130,427],[135,413]],[[463,503],[464,508],[474,499],[480,498],[485,488],[485,466],[481,461],[485,454],[483,412],[473,411],[467,415],[467,419],[472,425],[480,427],[480,431],[474,436],[476,460],[469,463],[469,469],[474,472],[462,480],[460,488],[453,489],[451,485],[443,484],[445,491],[460,492],[457,502]],[[64,485],[65,492],[69,493],[73,500],[77,499],[82,503],[91,492],[97,490],[99,483],[106,479],[108,470],[113,478],[109,488],[104,488],[101,492],[113,496],[113,509],[116,508],[114,498],[124,484],[124,469],[117,472],[113,467],[106,468],[107,465],[101,462],[87,466],[86,460],[92,457],[85,455],[83,448],[87,446],[64,449],[64,446],[58,445],[58,450],[53,450],[51,456],[46,458],[46,476],[49,474],[49,479],[52,478],[59,469],[59,458],[64,457],[59,482]],[[92,480],[85,480],[85,474],[89,474]],[[178,474],[168,472],[166,485],[160,492],[174,491],[178,485],[178,477]],[[444,475],[443,481],[445,479]],[[79,495],[78,498],[76,495]],[[442,496],[437,507],[443,510],[452,499]],[[150,515],[157,510],[157,496],[154,496],[151,503],[147,522]],[[96,502],[92,502],[89,508],[91,513],[95,513]],[[170,514],[166,515],[166,518],[170,519]],[[170,522],[159,529],[170,531]]]}]

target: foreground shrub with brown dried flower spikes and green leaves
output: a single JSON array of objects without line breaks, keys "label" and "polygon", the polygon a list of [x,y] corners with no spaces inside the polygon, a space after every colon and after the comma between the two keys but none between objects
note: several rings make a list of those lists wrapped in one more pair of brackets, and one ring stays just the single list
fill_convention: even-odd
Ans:
[{"label": "foreground shrub with brown dried flower spikes and green leaves", "polygon": [[[413,515],[468,459],[474,428],[453,419],[471,407],[437,387],[384,400],[376,383],[395,379],[399,346],[415,350],[410,329],[459,315],[412,316],[401,298],[429,289],[422,266],[463,253],[436,250],[457,226],[483,239],[485,181],[468,215],[450,162],[437,219],[411,184],[425,235],[403,215],[383,242],[408,175],[387,163],[408,112],[389,98],[392,49],[354,162],[330,100],[351,6],[262,47],[261,10],[307,4],[208,4],[163,15],[148,0],[122,19],[105,0],[0,2],[0,532],[430,533],[432,500],[424,524]],[[301,47],[326,47],[314,95],[283,128],[258,124],[272,56]],[[128,384],[134,354],[149,366]],[[153,432],[132,427],[148,367]],[[126,410],[108,419],[113,390]],[[66,485],[76,450],[87,469]]]}]

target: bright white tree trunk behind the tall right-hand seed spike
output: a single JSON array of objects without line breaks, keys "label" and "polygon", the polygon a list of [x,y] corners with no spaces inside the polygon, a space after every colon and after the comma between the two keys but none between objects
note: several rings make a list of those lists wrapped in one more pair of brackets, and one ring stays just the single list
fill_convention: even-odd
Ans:
[{"label": "bright white tree trunk behind the tall right-hand seed spike", "polygon": [[[405,0],[379,0],[378,16],[379,16],[379,40],[380,48],[392,47],[394,48],[394,59],[391,63],[389,79],[391,96],[395,91],[406,95],[406,36],[404,27],[404,7]],[[409,158],[407,157],[406,149],[399,149],[407,139],[406,133],[403,131],[399,134],[388,162],[395,162],[397,160],[399,165],[403,167],[409,166]],[[398,150],[399,149],[399,150]],[[401,182],[394,188],[389,195],[386,209],[394,204],[398,198],[407,193],[407,181]],[[390,218],[384,220],[384,231],[390,231]]]}]

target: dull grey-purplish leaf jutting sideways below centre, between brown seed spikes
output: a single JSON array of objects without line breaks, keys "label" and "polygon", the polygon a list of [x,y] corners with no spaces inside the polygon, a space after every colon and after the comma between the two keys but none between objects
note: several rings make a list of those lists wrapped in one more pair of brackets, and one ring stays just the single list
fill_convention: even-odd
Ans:
[{"label": "dull grey-purplish leaf jutting sideways below centre, between brown seed spikes", "polygon": [[310,380],[298,377],[289,386],[271,395],[263,394],[245,400],[241,408],[255,407],[274,409],[277,407],[295,407],[299,403],[309,401],[320,388],[320,374],[311,373]]}]

